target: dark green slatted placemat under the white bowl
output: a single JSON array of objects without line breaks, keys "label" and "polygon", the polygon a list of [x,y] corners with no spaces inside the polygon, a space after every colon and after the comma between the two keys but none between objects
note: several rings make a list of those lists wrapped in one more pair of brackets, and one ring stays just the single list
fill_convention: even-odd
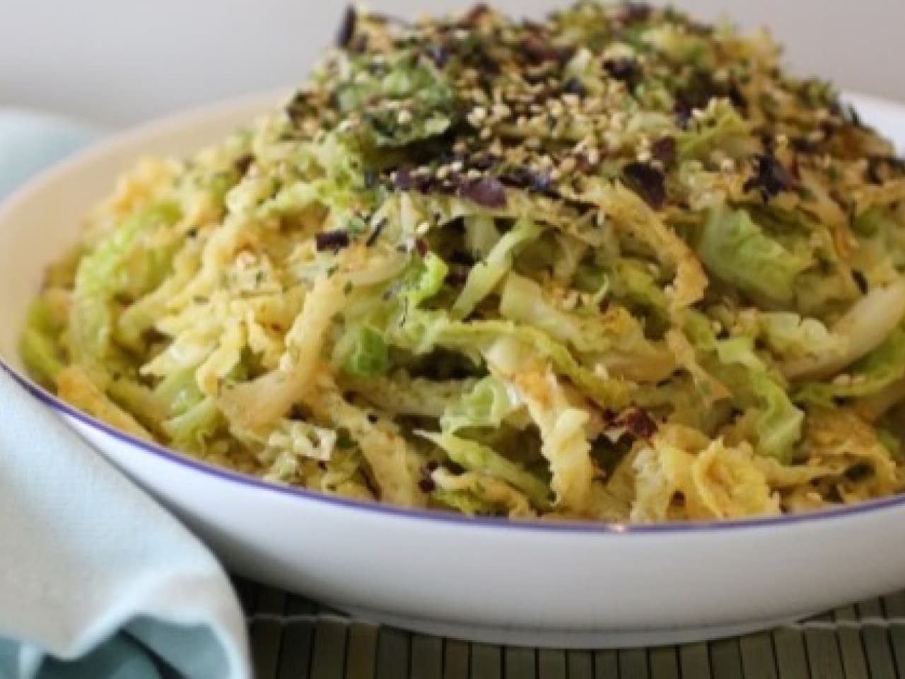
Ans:
[{"label": "dark green slatted placemat under the white bowl", "polygon": [[248,580],[235,585],[256,679],[905,678],[905,592],[710,644],[590,652],[410,634]]}]

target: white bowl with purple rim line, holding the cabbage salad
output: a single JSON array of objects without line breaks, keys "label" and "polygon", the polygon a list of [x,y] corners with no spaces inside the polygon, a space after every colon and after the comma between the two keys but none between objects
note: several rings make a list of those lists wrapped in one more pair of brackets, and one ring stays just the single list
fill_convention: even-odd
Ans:
[{"label": "white bowl with purple rim line, holding the cabbage salad", "polygon": [[[270,93],[129,132],[0,206],[0,357],[43,265],[142,153],[188,153]],[[905,140],[905,108],[858,99]],[[834,512],[650,526],[530,524],[407,512],[278,487],[129,438],[18,379],[254,579],[376,622],[531,646],[632,646],[735,635],[905,586],[905,496]],[[73,483],[78,483],[75,480]]]}]

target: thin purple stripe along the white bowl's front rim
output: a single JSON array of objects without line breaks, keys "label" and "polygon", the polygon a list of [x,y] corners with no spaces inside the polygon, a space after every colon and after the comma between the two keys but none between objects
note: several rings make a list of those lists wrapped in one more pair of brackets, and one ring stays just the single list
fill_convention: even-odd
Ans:
[{"label": "thin purple stripe along the white bowl's front rim", "polygon": [[142,441],[125,432],[115,429],[100,420],[81,412],[59,397],[39,386],[32,379],[25,377],[18,370],[12,368],[6,361],[0,358],[0,368],[3,368],[19,385],[37,398],[45,406],[69,416],[83,425],[109,435],[120,443],[131,445],[138,450],[156,455],[163,460],[178,464],[195,472],[205,473],[216,479],[229,483],[238,483],[247,487],[258,488],[270,493],[281,493],[291,497],[297,497],[309,502],[322,502],[345,510],[357,512],[374,512],[385,514],[410,521],[428,521],[448,523],[458,526],[479,527],[481,529],[496,529],[504,531],[539,531],[558,533],[597,533],[605,535],[643,535],[650,533],[700,533],[704,531],[736,531],[738,529],[774,528],[780,525],[808,523],[816,521],[829,521],[834,519],[851,518],[862,514],[878,512],[881,510],[900,509],[905,506],[905,494],[893,495],[880,500],[868,500],[857,504],[847,505],[838,509],[823,510],[820,512],[802,514],[783,514],[781,516],[761,517],[757,519],[737,519],[732,521],[685,521],[674,523],[594,523],[591,521],[513,521],[495,517],[466,517],[462,514],[443,512],[438,510],[411,510],[402,507],[394,507],[379,502],[365,502],[329,495],[327,493],[315,493],[295,486],[278,485],[268,483],[262,479],[248,474],[233,472],[224,467],[195,460],[186,454],[154,443]]}]

